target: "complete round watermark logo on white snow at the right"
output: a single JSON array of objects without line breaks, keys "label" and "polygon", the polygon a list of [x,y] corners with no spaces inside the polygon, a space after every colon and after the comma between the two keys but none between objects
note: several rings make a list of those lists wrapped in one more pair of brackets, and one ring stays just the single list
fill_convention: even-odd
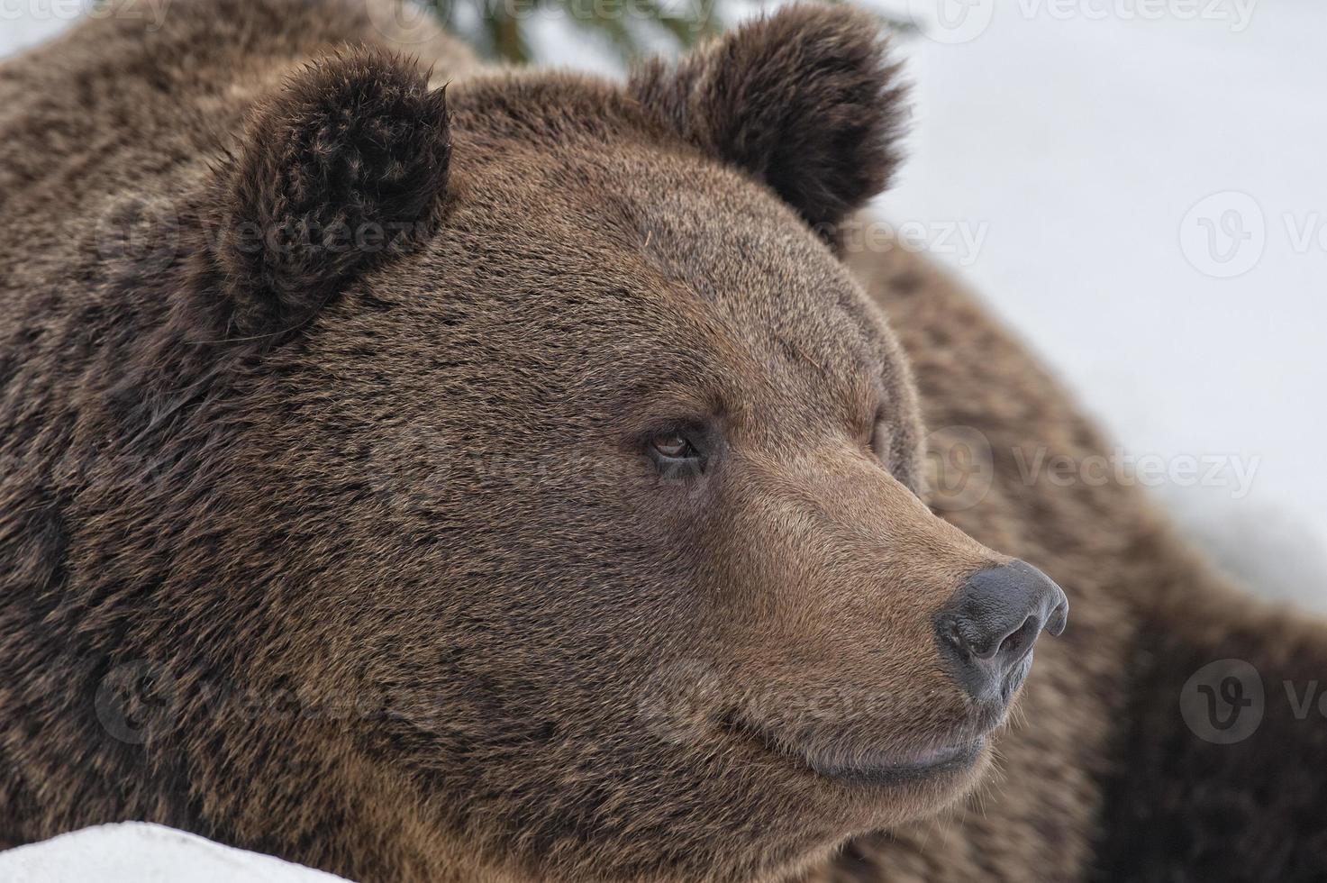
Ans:
[{"label": "complete round watermark logo on white snow at the right", "polygon": [[1267,243],[1258,201],[1226,190],[1198,201],[1180,223],[1180,248],[1201,274],[1231,279],[1254,268]]}]

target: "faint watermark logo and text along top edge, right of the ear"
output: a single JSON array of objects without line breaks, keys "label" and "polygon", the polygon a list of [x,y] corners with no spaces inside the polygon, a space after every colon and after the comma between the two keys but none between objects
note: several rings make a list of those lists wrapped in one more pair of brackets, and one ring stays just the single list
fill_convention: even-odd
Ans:
[{"label": "faint watermark logo and text along top edge, right of the ear", "polygon": [[[1018,0],[1003,9],[1019,19],[1052,21],[1217,21],[1231,33],[1249,28],[1258,0]],[[986,33],[997,0],[908,0],[918,31],[937,42],[967,42]]]}]

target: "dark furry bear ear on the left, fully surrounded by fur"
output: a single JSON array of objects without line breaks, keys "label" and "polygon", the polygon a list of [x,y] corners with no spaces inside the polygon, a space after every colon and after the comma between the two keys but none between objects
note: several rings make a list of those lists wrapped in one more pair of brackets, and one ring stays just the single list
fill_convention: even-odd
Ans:
[{"label": "dark furry bear ear on the left, fully surrounded by fur", "polygon": [[232,332],[296,328],[426,240],[450,154],[443,90],[413,64],[356,49],[296,73],[215,179],[211,242]]}]

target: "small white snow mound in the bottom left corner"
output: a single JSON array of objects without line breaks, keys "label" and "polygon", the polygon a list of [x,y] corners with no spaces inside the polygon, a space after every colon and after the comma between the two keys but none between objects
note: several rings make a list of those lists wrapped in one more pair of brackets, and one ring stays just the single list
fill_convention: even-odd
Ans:
[{"label": "small white snow mound in the bottom left corner", "polygon": [[9,883],[336,883],[340,876],[145,822],[64,834],[0,852]]}]

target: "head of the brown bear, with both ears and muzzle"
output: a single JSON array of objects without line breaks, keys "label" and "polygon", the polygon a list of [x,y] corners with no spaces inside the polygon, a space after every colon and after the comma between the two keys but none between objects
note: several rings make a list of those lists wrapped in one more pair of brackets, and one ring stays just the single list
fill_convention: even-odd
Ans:
[{"label": "head of the brown bear, with both ears and muzzle", "polygon": [[173,393],[207,467],[154,621],[374,713],[179,738],[321,752],[548,880],[772,879],[961,795],[1063,596],[993,689],[958,671],[955,599],[1010,560],[924,502],[908,365],[835,254],[896,78],[869,16],[794,7],[625,85],[356,49],[256,108],[158,353],[211,385]]}]

